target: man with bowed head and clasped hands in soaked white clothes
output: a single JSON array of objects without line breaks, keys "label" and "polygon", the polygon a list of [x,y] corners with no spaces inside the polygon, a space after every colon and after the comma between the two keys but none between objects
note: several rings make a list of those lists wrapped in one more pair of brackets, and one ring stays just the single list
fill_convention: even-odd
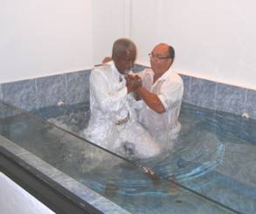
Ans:
[{"label": "man with bowed head and clasped hands in soaked white clothes", "polygon": [[[91,142],[121,156],[153,157],[160,148],[149,132],[135,121],[132,91],[141,82],[127,74],[134,65],[135,43],[127,38],[114,42],[112,60],[96,67],[90,76],[91,118],[84,135]],[[129,78],[127,85],[126,77]]]}]

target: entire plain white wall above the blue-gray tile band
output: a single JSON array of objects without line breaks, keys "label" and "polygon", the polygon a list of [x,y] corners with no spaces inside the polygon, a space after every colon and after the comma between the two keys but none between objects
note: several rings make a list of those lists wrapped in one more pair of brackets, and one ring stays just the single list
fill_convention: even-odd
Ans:
[{"label": "entire plain white wall above the blue-gray tile band", "polygon": [[90,68],[118,37],[149,64],[156,43],[176,49],[174,68],[256,89],[254,0],[10,0],[0,7],[0,83]]}]

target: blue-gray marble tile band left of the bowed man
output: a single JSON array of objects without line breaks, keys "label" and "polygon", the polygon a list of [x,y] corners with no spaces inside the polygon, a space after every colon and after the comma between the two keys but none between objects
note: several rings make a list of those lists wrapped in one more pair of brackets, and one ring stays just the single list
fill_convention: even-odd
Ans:
[{"label": "blue-gray marble tile band left of the bowed man", "polygon": [[0,99],[23,110],[89,101],[91,70],[0,84]]}]

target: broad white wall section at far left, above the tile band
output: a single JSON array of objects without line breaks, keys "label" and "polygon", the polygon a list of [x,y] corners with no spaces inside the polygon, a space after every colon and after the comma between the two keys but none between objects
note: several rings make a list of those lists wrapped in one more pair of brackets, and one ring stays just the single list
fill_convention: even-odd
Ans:
[{"label": "broad white wall section at far left, above the tile band", "polygon": [[0,7],[0,83],[93,64],[92,0],[9,0]]}]

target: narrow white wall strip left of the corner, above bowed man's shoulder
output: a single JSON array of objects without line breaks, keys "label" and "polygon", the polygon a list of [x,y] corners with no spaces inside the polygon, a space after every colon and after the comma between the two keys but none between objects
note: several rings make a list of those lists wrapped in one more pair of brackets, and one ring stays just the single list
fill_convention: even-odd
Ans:
[{"label": "narrow white wall strip left of the corner, above bowed man's shoulder", "polygon": [[111,56],[117,38],[130,37],[131,0],[93,0],[93,63]]}]

